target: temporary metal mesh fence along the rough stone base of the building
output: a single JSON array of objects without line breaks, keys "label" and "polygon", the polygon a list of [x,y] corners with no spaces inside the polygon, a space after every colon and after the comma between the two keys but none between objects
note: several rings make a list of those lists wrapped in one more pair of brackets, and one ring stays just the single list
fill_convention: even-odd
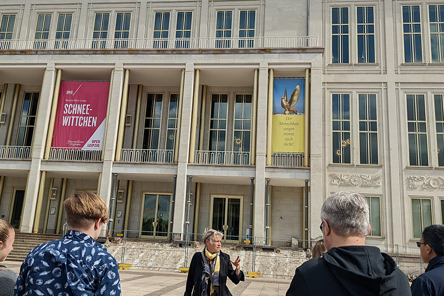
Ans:
[{"label": "temporary metal mesh fence along the rough stone base of the building", "polygon": [[[170,239],[171,234],[166,232],[124,230],[114,231],[114,235],[117,238],[107,245],[111,254],[120,264],[132,264],[137,268],[178,270],[189,267],[193,254],[203,248],[203,243],[198,242],[202,234],[175,234],[176,238],[180,237],[175,240]],[[291,278],[295,269],[309,259],[311,252],[306,248],[311,249],[316,243],[315,240],[275,237],[268,238],[270,245],[265,245],[265,241],[265,237],[225,236],[222,249],[231,258],[240,256],[244,272]],[[388,253],[407,275],[424,272],[418,248],[397,244],[367,245],[377,246]]]}]

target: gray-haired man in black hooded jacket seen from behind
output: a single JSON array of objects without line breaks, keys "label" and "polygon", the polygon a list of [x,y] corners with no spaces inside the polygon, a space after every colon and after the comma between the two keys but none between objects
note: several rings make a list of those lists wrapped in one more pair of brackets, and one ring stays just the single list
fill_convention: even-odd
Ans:
[{"label": "gray-haired man in black hooded jacket seen from behind", "polygon": [[379,248],[365,246],[369,206],[355,192],[337,192],[321,209],[327,252],[296,269],[287,296],[409,296],[406,276]]}]

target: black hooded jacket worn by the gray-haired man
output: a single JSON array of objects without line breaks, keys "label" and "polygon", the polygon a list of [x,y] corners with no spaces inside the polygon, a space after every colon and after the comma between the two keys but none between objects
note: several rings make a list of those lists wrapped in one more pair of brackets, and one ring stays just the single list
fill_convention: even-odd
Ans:
[{"label": "black hooded jacket worn by the gray-haired man", "polygon": [[405,274],[373,246],[334,247],[296,269],[287,296],[410,296]]}]

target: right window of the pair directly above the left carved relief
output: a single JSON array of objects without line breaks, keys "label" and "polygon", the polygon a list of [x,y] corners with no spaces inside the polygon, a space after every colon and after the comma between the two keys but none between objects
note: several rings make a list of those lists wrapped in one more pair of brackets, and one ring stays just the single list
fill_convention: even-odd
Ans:
[{"label": "right window of the pair directly above the left carved relief", "polygon": [[359,94],[359,154],[360,163],[377,165],[378,118],[375,94]]}]

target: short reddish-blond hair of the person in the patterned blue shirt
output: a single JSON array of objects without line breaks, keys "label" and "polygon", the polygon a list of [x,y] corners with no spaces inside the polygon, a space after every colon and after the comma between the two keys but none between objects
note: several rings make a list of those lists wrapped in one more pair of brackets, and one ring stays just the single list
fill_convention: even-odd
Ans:
[{"label": "short reddish-blond hair of the person in the patterned blue shirt", "polygon": [[92,192],[75,192],[63,202],[63,208],[70,228],[88,228],[99,218],[107,223],[110,217],[103,199]]}]

